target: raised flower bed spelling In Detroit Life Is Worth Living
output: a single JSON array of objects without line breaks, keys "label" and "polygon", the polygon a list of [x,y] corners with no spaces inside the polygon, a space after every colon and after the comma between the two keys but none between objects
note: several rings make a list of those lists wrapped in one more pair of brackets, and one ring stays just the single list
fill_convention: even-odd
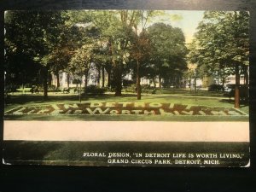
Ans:
[{"label": "raised flower bed spelling In Detroit Life Is Worth Living", "polygon": [[87,102],[52,104],[47,106],[20,106],[5,115],[247,115],[236,108],[192,106],[159,102]]}]

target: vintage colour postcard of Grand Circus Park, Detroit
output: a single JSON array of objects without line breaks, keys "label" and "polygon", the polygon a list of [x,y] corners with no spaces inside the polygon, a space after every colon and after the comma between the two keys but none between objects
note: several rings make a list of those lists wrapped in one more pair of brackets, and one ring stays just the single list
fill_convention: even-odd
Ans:
[{"label": "vintage colour postcard of Grand Circus Park, Detroit", "polygon": [[248,167],[249,13],[5,11],[3,164]]}]

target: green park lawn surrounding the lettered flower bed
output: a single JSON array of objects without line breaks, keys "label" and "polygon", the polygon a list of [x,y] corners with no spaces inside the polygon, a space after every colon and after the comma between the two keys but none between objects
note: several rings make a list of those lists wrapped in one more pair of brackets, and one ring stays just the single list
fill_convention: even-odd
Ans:
[{"label": "green park lawn surrounding the lettered flower bed", "polygon": [[[207,92],[207,91],[206,91]],[[195,105],[195,106],[208,106],[218,108],[232,108],[234,101],[224,97],[212,97],[212,96],[188,96],[186,94],[144,94],[142,100],[138,101],[135,94],[124,94],[123,96],[113,96],[113,94],[106,94],[103,96],[86,96],[82,98],[81,103],[85,102],[160,102],[160,103],[175,103],[183,105]],[[79,96],[75,94],[55,94],[49,93],[49,99],[44,101],[43,95],[20,95],[14,94],[11,96],[11,104],[8,104],[5,111],[12,108],[17,108],[22,105],[26,106],[42,106],[50,104],[61,103],[79,103]],[[248,113],[248,106],[241,105],[240,110],[244,113]],[[121,118],[120,118],[121,117]],[[5,119],[14,120],[164,120],[164,121],[244,121],[248,120],[247,116],[184,116],[174,115],[162,116],[162,115],[9,115],[5,116]]]}]

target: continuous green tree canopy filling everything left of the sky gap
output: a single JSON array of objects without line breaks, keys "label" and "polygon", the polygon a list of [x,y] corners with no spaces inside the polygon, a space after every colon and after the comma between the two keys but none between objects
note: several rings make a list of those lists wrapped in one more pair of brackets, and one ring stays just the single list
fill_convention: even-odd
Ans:
[{"label": "continuous green tree canopy filling everything left of the sky gap", "polygon": [[151,10],[8,11],[6,72],[17,73],[28,66],[34,70],[31,79],[38,75],[43,79],[38,84],[44,84],[46,97],[49,73],[57,77],[58,88],[60,72],[86,77],[95,63],[108,72],[108,84],[116,96],[121,95],[125,75],[133,73],[140,99],[142,77],[154,81],[159,76],[160,82],[172,79],[173,83],[186,70],[188,51],[182,30],[152,22],[162,14]]}]

